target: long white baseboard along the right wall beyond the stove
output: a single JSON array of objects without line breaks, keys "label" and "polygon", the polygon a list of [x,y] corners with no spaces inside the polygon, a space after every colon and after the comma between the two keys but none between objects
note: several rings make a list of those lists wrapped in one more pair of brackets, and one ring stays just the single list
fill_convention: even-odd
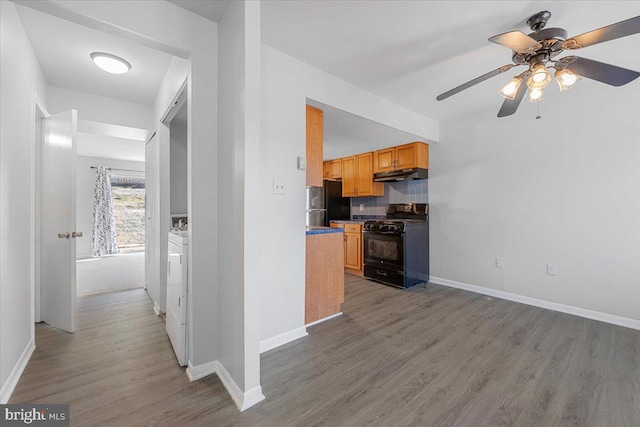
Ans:
[{"label": "long white baseboard along the right wall beyond the stove", "polygon": [[587,319],[598,320],[600,322],[611,323],[625,328],[640,330],[640,320],[630,319],[628,317],[616,316],[615,314],[602,313],[600,311],[589,310],[586,308],[574,307],[572,305],[560,304],[557,302],[545,301],[537,298],[531,298],[524,295],[513,294],[511,292],[500,291],[497,289],[485,288],[468,283],[456,282],[455,280],[442,279],[440,277],[431,277],[431,283],[449,286],[451,288],[464,289],[466,291],[476,292],[483,295],[489,295],[496,298],[506,299],[509,301],[519,302],[522,304],[533,305],[535,307],[546,308],[548,310],[559,311],[562,313],[573,314],[574,316],[585,317]]}]

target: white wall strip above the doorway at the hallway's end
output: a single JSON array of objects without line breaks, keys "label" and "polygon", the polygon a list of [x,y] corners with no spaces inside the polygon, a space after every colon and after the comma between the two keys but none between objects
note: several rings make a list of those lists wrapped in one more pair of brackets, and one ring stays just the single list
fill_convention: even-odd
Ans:
[{"label": "white wall strip above the doorway at the hallway's end", "polygon": [[78,119],[138,129],[152,128],[153,111],[149,105],[93,95],[57,86],[48,87],[49,113],[78,110]]}]

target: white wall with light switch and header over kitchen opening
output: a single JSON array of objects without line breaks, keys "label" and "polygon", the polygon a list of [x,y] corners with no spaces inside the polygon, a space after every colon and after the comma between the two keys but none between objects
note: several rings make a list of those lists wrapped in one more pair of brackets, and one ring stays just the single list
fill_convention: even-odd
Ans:
[{"label": "white wall with light switch and header over kitchen opening", "polygon": [[[263,341],[304,328],[305,172],[296,169],[296,156],[305,155],[307,98],[431,141],[439,139],[434,120],[262,46],[260,214],[254,220],[260,224]],[[274,179],[286,182],[286,195],[272,194]]]}]

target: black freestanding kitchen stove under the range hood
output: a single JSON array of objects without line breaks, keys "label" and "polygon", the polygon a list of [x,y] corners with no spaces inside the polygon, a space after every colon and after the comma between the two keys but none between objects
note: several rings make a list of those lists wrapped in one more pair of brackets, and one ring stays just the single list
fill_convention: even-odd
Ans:
[{"label": "black freestanding kitchen stove under the range hood", "polygon": [[365,221],[364,276],[400,288],[429,281],[429,205],[387,205],[387,218]]}]

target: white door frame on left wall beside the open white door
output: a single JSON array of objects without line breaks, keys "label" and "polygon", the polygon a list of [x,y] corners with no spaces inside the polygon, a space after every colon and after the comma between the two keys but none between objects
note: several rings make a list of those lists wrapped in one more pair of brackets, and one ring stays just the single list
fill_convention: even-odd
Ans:
[{"label": "white door frame on left wall beside the open white door", "polygon": [[32,336],[35,340],[35,323],[41,322],[42,295],[42,119],[50,116],[38,93],[32,93],[31,116],[31,293],[34,296],[31,313]]}]

